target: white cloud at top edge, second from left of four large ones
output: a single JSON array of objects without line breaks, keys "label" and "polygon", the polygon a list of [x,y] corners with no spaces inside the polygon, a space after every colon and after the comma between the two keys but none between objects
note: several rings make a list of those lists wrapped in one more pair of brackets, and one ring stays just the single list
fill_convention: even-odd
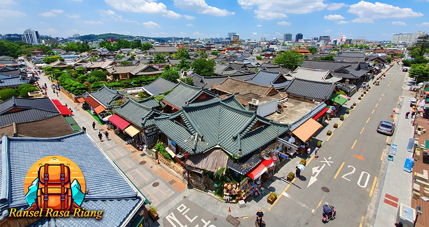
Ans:
[{"label": "white cloud at top edge, second from left of four large ones", "polygon": [[229,12],[226,9],[212,7],[205,3],[205,0],[173,0],[174,6],[182,10],[191,10],[199,14],[210,14],[213,16],[228,16],[234,15],[235,12]]}]

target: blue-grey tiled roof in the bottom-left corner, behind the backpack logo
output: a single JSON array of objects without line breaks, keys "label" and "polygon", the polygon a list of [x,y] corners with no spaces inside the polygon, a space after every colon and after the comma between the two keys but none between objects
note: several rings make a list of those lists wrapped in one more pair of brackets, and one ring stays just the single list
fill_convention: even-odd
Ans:
[{"label": "blue-grey tiled roof in the bottom-left corner, behind the backpack logo", "polygon": [[[81,204],[86,210],[102,210],[103,218],[47,217],[33,226],[121,226],[128,224],[128,217],[140,209],[145,198],[131,186],[130,181],[119,172],[83,132],[56,138],[3,137],[0,141],[0,163],[3,180],[0,207],[1,213],[10,208],[28,208],[24,194],[24,180],[28,169],[40,158],[63,156],[76,163],[89,189]],[[25,150],[25,152],[23,152]],[[82,152],[85,150],[85,152]],[[114,187],[112,187],[114,183]],[[138,195],[138,196],[136,196]],[[2,218],[3,219],[3,218]]]}]

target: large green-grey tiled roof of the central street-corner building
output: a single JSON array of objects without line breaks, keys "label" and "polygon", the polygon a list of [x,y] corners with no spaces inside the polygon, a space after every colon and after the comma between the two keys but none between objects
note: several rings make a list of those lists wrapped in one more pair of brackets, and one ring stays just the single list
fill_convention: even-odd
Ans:
[{"label": "large green-grey tiled roof of the central street-corner building", "polygon": [[[184,106],[167,117],[155,118],[155,125],[189,154],[202,153],[214,146],[238,157],[246,156],[288,131],[254,111],[237,109],[226,99],[198,106]],[[184,125],[174,119],[181,118]],[[255,124],[262,126],[253,129]],[[197,137],[196,137],[197,136]]]}]

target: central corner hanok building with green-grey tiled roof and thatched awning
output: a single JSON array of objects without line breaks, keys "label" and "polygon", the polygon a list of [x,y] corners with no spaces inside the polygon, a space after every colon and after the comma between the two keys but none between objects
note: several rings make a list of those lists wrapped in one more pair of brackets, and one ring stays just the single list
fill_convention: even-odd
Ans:
[{"label": "central corner hanok building with green-grey tiled roof and thatched awning", "polygon": [[[211,190],[216,188],[203,174],[204,170],[214,172],[228,167],[237,175],[251,173],[249,176],[255,180],[266,171],[265,166],[260,166],[264,171],[258,167],[261,163],[258,155],[271,151],[268,145],[289,130],[286,124],[245,110],[233,95],[211,103],[184,106],[171,115],[155,118],[154,122],[168,140],[175,142],[176,154],[188,155],[185,163],[191,183]],[[249,158],[254,160],[250,164]],[[273,159],[269,159],[272,163]]]}]

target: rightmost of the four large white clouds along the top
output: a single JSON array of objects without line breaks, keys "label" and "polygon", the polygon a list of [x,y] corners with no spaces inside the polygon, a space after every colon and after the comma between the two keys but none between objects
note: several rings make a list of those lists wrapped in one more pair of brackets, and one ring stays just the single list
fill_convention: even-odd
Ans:
[{"label": "rightmost of the four large white clouds along the top", "polygon": [[410,8],[400,8],[384,3],[368,3],[360,1],[350,6],[348,13],[358,16],[352,20],[354,23],[374,23],[374,19],[421,17],[420,12],[414,12]]}]

